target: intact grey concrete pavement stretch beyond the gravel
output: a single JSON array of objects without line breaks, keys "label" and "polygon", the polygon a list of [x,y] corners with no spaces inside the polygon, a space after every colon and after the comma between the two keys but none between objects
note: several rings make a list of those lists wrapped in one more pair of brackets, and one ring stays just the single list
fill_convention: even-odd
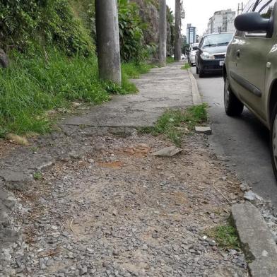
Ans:
[{"label": "intact grey concrete pavement stretch beyond the gravel", "polygon": [[191,78],[186,70],[181,69],[183,64],[180,62],[152,69],[150,73],[133,80],[139,93],[114,96],[112,101],[93,107],[88,114],[71,117],[62,124],[102,127],[153,126],[165,109],[192,105]]}]

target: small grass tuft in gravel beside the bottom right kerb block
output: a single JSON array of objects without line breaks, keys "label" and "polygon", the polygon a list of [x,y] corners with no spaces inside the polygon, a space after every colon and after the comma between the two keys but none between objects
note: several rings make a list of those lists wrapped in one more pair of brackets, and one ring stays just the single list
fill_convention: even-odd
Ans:
[{"label": "small grass tuft in gravel beside the bottom right kerb block", "polygon": [[231,225],[221,225],[208,230],[208,237],[213,238],[218,246],[223,249],[240,249],[237,231]]}]

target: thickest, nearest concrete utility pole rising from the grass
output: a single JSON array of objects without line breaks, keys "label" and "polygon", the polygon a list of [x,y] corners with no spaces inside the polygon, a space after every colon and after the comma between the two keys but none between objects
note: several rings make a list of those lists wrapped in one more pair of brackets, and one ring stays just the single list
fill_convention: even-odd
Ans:
[{"label": "thickest, nearest concrete utility pole rising from the grass", "polygon": [[117,0],[95,0],[95,22],[100,78],[121,85]]}]

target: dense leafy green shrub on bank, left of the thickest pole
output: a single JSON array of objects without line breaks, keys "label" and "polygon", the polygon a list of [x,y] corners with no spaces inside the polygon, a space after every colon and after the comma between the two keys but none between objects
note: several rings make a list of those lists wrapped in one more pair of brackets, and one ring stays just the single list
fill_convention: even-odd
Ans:
[{"label": "dense leafy green shrub on bank, left of the thickest pole", "polygon": [[0,47],[33,53],[58,45],[67,54],[88,55],[93,42],[67,0],[0,1]]}]

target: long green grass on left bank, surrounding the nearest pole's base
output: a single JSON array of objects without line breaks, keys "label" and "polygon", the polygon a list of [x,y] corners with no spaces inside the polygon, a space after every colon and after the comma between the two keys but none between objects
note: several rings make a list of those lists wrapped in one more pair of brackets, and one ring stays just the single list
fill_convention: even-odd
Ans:
[{"label": "long green grass on left bank, surrounding the nearest pole's base", "polygon": [[0,136],[45,134],[54,122],[47,111],[68,110],[71,101],[100,104],[111,94],[135,93],[129,78],[138,78],[150,68],[123,64],[122,86],[118,86],[99,80],[95,56],[69,58],[55,50],[28,58],[13,54],[11,67],[0,69]]}]

